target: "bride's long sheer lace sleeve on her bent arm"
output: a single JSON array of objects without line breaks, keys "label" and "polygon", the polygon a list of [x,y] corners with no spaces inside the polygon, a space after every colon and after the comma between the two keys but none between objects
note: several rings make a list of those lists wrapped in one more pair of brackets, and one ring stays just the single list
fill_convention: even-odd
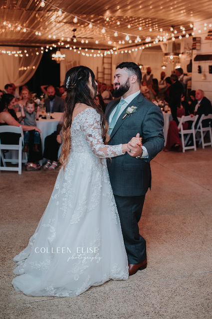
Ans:
[{"label": "bride's long sheer lace sleeve on her bent arm", "polygon": [[98,158],[113,158],[123,155],[122,144],[104,145],[101,134],[100,115],[94,109],[87,109],[89,112],[84,113],[81,129],[85,139],[89,144],[92,152]]}]

